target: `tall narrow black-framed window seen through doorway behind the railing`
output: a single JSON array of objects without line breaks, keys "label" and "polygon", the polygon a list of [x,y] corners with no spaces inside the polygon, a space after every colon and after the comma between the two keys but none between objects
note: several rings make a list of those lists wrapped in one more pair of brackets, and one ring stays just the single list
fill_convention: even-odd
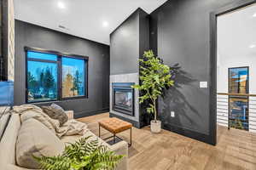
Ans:
[{"label": "tall narrow black-framed window seen through doorway behind the railing", "polygon": [[248,130],[248,67],[229,69],[230,127]]}]

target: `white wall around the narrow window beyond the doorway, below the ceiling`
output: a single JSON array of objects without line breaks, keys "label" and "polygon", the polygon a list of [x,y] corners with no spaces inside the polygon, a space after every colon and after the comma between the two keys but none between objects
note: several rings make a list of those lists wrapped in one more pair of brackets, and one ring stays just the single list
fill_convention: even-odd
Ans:
[{"label": "white wall around the narrow window beyond the doorway, below the ceiling", "polygon": [[[229,68],[249,67],[249,94],[256,94],[256,56],[243,57],[224,57],[218,55],[218,93],[229,92]],[[227,127],[228,125],[228,96],[218,95],[217,97],[217,122],[219,125]],[[249,98],[249,131],[256,133],[256,97]]]}]

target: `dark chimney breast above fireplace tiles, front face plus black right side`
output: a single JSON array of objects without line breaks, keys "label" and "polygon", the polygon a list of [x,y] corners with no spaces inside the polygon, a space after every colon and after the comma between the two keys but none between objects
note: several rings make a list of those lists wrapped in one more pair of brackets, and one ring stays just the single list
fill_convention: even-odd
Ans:
[{"label": "dark chimney breast above fireplace tiles, front face plus black right side", "polygon": [[142,8],[110,34],[110,74],[139,71],[138,59],[149,49],[149,16]]}]

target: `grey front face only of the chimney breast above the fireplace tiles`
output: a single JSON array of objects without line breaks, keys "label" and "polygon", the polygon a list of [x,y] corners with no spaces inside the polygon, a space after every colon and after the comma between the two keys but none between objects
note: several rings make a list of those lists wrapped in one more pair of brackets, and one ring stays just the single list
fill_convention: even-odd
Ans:
[{"label": "grey front face only of the chimney breast above the fireplace tiles", "polygon": [[110,34],[110,75],[138,72],[139,10]]}]

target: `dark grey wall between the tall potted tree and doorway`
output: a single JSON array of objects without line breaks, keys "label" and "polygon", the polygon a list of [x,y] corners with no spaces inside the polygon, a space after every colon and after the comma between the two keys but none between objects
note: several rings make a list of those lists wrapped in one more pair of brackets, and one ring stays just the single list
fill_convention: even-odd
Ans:
[{"label": "dark grey wall between the tall potted tree and doorway", "polygon": [[[177,88],[171,88],[159,100],[163,127],[209,144],[215,144],[210,111],[211,82],[210,13],[239,0],[169,0],[150,14],[150,48],[166,65],[178,63]],[[211,84],[208,84],[210,87]],[[175,117],[171,117],[175,111]]]}]

